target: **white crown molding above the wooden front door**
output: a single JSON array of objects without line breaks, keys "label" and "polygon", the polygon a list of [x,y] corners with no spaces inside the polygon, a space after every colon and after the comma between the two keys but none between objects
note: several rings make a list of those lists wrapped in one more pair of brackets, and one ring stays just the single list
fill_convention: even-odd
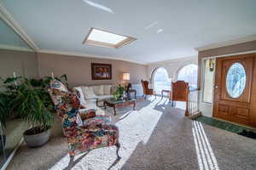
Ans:
[{"label": "white crown molding above the wooden front door", "polygon": [[221,48],[221,47],[225,47],[225,46],[236,45],[236,44],[243,43],[243,42],[252,42],[255,40],[256,40],[256,35],[252,35],[252,36],[248,36],[248,37],[237,38],[237,39],[230,40],[227,42],[211,43],[211,44],[208,44],[205,46],[195,48],[195,50],[203,51],[203,50],[212,49],[212,48]]}]

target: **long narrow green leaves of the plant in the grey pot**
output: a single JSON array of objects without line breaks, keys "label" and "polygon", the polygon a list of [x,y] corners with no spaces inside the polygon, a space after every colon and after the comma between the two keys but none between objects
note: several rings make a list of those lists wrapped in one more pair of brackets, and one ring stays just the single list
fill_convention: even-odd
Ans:
[{"label": "long narrow green leaves of the plant in the grey pot", "polygon": [[[54,120],[51,107],[48,105],[45,91],[42,88],[34,88],[30,80],[24,78],[16,88],[15,97],[11,105],[18,112],[20,117],[29,122],[32,127],[40,126],[47,129]],[[48,108],[47,108],[48,107]]]}]

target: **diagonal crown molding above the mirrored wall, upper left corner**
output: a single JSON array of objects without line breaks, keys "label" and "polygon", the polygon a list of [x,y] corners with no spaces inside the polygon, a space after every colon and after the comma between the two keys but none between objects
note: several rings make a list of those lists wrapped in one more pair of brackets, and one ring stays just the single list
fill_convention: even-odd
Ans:
[{"label": "diagonal crown molding above the mirrored wall, upper left corner", "polygon": [[0,3],[0,18],[2,18],[8,26],[10,26],[31,48],[38,51],[39,48],[32,38],[26,34],[26,31],[21,28],[17,21],[15,21],[12,14]]}]

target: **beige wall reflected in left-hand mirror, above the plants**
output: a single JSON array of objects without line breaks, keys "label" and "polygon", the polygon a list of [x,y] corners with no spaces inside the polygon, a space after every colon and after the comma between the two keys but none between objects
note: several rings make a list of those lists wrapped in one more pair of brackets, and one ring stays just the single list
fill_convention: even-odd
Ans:
[{"label": "beige wall reflected in left-hand mirror, above the plants", "polygon": [[34,52],[0,49],[0,77],[38,77],[38,59]]}]

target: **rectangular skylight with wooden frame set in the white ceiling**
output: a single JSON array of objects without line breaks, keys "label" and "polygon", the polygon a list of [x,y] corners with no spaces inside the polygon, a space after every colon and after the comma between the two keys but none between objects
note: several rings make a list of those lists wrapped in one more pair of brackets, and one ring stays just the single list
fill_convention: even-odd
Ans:
[{"label": "rectangular skylight with wooden frame set in the white ceiling", "polygon": [[98,28],[90,28],[90,31],[85,37],[83,43],[108,48],[120,48],[135,40],[136,38],[134,37],[122,36],[109,31],[103,31]]}]

